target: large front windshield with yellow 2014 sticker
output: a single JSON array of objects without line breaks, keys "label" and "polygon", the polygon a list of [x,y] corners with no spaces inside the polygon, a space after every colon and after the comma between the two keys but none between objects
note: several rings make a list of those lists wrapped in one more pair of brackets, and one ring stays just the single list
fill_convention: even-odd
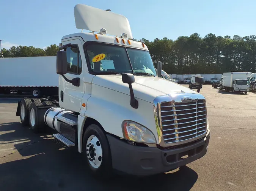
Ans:
[{"label": "large front windshield with yellow 2014 sticker", "polygon": [[86,46],[86,52],[91,70],[96,74],[134,72],[135,75],[156,76],[154,64],[148,51],[103,43],[91,43]]}]

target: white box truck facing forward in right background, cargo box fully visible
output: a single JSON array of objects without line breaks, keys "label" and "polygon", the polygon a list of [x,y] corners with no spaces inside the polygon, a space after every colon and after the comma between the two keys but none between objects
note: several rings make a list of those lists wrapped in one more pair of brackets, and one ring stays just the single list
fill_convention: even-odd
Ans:
[{"label": "white box truck facing forward in right background, cargo box fully visible", "polygon": [[222,77],[222,85],[225,91],[244,92],[249,91],[250,82],[247,80],[248,72],[225,72]]}]

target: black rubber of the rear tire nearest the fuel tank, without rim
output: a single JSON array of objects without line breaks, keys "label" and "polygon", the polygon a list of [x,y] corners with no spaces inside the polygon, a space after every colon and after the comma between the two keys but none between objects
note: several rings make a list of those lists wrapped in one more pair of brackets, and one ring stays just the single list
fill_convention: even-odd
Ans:
[{"label": "black rubber of the rear tire nearest the fuel tank, without rim", "polygon": [[[44,117],[43,116],[38,116],[36,106],[41,106],[41,102],[32,102],[29,108],[29,115],[28,115],[28,122],[31,130],[35,133],[42,132],[45,128],[45,123],[44,123]],[[35,123],[31,122],[31,112],[34,110],[35,112]]]}]

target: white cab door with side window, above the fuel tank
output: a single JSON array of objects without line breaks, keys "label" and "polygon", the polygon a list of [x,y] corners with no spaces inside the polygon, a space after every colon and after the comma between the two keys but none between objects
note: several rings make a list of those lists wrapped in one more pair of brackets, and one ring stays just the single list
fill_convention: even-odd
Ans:
[{"label": "white cab door with side window, above the fuel tank", "polygon": [[64,49],[67,53],[67,74],[64,76],[68,80],[76,79],[77,83],[71,83],[59,76],[59,102],[60,106],[71,111],[79,112],[81,100],[84,94],[83,68],[81,54],[83,53],[82,42],[80,39],[73,39],[63,43],[71,44]]}]

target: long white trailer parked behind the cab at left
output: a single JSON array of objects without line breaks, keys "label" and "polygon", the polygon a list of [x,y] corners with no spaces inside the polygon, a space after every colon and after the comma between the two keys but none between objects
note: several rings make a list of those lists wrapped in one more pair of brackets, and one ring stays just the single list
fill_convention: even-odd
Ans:
[{"label": "long white trailer parked behind the cab at left", "polygon": [[31,92],[33,97],[58,95],[56,56],[0,59],[0,93]]}]

